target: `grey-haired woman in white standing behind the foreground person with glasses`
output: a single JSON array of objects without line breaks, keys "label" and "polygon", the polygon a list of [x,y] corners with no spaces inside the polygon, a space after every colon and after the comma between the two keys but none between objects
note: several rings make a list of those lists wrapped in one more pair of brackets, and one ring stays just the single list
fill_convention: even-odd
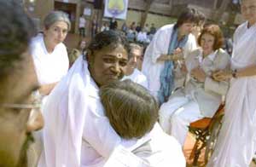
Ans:
[{"label": "grey-haired woman in white standing behind the foreground person with glasses", "polygon": [[67,14],[61,11],[51,12],[44,19],[44,33],[38,33],[32,39],[32,57],[42,95],[49,95],[55,84],[67,74],[67,49],[62,42],[67,37],[70,26]]}]

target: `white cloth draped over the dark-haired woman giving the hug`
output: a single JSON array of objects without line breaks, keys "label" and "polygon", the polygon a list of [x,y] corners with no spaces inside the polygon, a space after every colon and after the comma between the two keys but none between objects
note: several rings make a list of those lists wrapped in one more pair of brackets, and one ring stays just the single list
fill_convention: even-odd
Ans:
[{"label": "white cloth draped over the dark-haired woman giving the hug", "polygon": [[[150,132],[139,140],[121,139],[104,114],[98,91],[80,56],[44,106],[44,150],[39,167],[101,167],[114,147],[131,151],[153,136]],[[174,159],[184,162],[180,145],[170,142],[177,148],[170,148],[177,155]]]}]

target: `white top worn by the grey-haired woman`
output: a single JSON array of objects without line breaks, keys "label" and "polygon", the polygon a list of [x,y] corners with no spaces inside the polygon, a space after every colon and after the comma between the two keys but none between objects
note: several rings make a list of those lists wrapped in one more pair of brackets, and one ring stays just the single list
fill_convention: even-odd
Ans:
[{"label": "white top worn by the grey-haired woman", "polygon": [[39,33],[32,38],[31,51],[40,85],[58,82],[67,74],[69,61],[63,43],[57,44],[49,54],[44,45],[44,35]]}]

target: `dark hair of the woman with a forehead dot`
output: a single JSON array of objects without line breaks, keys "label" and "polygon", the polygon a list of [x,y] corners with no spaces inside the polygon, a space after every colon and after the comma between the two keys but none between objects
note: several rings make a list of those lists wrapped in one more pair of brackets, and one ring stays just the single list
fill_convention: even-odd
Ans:
[{"label": "dark hair of the woman with a forehead dot", "polygon": [[92,38],[87,49],[90,50],[90,53],[93,55],[95,50],[101,50],[105,47],[116,49],[119,45],[124,47],[130,58],[130,47],[126,37],[113,30],[103,31],[96,34],[96,36]]}]

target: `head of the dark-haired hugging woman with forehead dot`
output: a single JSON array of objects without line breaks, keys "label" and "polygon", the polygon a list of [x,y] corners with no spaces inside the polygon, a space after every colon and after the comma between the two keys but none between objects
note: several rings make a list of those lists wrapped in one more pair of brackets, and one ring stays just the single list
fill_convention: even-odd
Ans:
[{"label": "head of the dark-haired hugging woman with forehead dot", "polygon": [[118,32],[96,34],[88,46],[87,60],[90,75],[99,87],[124,77],[129,53],[129,43]]}]

